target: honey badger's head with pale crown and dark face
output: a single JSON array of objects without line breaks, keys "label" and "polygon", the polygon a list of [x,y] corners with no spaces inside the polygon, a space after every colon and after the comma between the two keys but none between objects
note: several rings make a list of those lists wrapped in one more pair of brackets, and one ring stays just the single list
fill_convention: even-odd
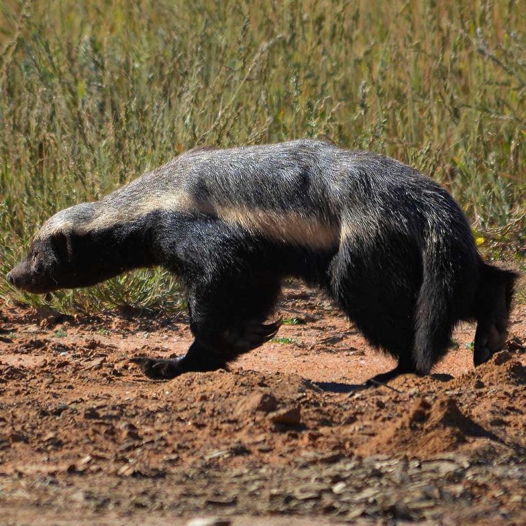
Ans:
[{"label": "honey badger's head with pale crown and dark face", "polygon": [[118,229],[92,227],[97,203],[72,206],[51,217],[38,231],[26,258],[7,275],[13,286],[44,294],[60,288],[94,285],[133,265],[123,263]]}]

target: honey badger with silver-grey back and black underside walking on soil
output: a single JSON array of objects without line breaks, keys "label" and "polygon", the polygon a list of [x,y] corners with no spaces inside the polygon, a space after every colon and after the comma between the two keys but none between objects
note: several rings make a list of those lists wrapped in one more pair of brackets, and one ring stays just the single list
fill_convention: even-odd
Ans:
[{"label": "honey badger with silver-grey back and black underside walking on soil", "polygon": [[482,262],[460,207],[390,158],[295,140],[194,149],[100,201],[58,212],[8,280],[29,292],[164,266],[188,294],[195,336],[148,377],[211,371],[273,338],[284,277],[327,291],[371,344],[425,375],[462,320],[475,364],[505,343],[516,275]]}]

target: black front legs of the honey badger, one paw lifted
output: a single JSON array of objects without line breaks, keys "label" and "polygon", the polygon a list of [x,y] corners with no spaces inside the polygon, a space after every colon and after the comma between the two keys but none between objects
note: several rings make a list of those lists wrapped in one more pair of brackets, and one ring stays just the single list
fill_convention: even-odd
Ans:
[{"label": "black front legs of the honey badger, one paw lifted", "polygon": [[[233,277],[231,277],[233,278]],[[195,340],[186,355],[173,360],[138,356],[132,362],[151,379],[171,379],[190,371],[215,371],[271,340],[281,323],[262,323],[279,294],[275,277],[226,276],[199,283],[188,301]]]}]

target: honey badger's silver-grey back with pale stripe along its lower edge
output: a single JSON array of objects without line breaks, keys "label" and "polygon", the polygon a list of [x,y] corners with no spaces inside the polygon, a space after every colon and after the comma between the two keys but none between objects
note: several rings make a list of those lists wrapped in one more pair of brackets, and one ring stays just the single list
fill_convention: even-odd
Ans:
[{"label": "honey badger's silver-grey back with pale stripe along its lower edge", "polygon": [[408,166],[296,140],[190,150],[112,193],[99,209],[112,210],[112,220],[118,211],[123,219],[155,210],[207,214],[275,240],[327,248],[361,226],[412,229],[418,238],[427,214],[451,216],[439,201],[463,220],[447,192]]}]

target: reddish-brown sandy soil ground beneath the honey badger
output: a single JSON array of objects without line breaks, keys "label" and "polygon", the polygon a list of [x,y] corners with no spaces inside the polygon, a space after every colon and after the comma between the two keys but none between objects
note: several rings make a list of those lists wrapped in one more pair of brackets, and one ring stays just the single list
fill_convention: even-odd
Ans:
[{"label": "reddish-brown sandy soil ground beneath the honey badger", "polygon": [[183,353],[184,316],[1,307],[0,525],[526,523],[525,305],[477,371],[465,325],[366,390],[393,362],[324,297],[280,311],[229,371],[155,382],[127,358]]}]

